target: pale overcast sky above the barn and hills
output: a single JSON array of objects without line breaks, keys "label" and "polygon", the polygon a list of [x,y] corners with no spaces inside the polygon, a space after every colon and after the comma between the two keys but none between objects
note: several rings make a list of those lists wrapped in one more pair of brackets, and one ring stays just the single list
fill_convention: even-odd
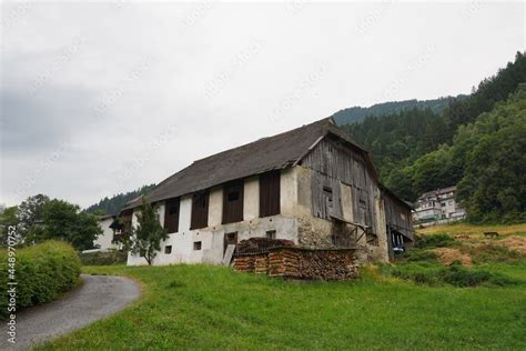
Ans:
[{"label": "pale overcast sky above the barn and hills", "polygon": [[2,2],[1,192],[87,207],[353,106],[468,93],[523,2]]}]

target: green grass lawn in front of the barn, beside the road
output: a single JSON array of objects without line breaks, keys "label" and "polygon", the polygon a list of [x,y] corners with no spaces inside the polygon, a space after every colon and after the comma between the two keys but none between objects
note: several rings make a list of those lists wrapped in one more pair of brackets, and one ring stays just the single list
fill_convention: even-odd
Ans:
[{"label": "green grass lawn in front of the barn, beside the road", "polygon": [[[526,279],[525,267],[499,271]],[[229,268],[92,267],[143,284],[127,310],[39,349],[526,350],[526,289],[418,285],[364,269],[300,283]]]}]

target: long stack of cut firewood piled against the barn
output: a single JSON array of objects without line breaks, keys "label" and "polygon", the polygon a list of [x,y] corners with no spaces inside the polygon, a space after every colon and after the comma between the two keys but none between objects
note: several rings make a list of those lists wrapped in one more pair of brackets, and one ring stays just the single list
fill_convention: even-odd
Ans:
[{"label": "long stack of cut firewood piled against the barn", "polygon": [[357,274],[353,249],[305,249],[274,247],[256,252],[237,252],[234,269],[271,277],[343,280]]}]

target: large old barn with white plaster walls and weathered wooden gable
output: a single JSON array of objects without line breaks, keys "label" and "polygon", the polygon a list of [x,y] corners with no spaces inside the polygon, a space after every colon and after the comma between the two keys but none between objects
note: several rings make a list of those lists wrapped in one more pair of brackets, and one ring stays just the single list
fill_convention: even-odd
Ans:
[{"label": "large old barn with white plaster walls and weathered wooden gable", "polygon": [[[380,184],[367,151],[332,119],[198,160],[146,200],[170,233],[154,264],[221,264],[229,245],[254,237],[357,247],[388,261],[414,240],[411,207]],[[131,201],[120,222],[136,227],[140,204]],[[146,261],[129,254],[128,264]]]}]

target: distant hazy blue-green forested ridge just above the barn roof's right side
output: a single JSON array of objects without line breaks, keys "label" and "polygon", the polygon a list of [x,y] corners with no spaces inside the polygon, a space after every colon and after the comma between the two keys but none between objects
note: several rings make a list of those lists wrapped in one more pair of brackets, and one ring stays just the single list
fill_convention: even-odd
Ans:
[{"label": "distant hazy blue-green forested ridge just above the barn roof's right side", "polygon": [[[465,96],[458,96],[456,99],[462,99]],[[368,108],[353,107],[344,110],[340,110],[332,117],[338,126],[351,124],[364,120],[368,116],[388,116],[398,113],[406,110],[429,109],[434,113],[442,113],[449,102],[455,99],[453,97],[439,98],[434,100],[405,100],[405,101],[391,101],[373,104]]]}]

